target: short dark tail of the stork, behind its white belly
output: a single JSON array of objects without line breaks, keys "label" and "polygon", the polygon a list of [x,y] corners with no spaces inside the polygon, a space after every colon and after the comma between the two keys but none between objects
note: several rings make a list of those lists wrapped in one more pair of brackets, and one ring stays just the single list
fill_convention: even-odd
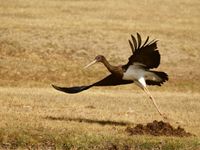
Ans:
[{"label": "short dark tail of the stork, behind its white belly", "polygon": [[161,72],[161,71],[150,71],[150,72],[154,74],[153,78],[155,79],[154,80],[147,79],[146,80],[147,85],[161,86],[161,84],[169,80],[168,75],[165,72]]}]

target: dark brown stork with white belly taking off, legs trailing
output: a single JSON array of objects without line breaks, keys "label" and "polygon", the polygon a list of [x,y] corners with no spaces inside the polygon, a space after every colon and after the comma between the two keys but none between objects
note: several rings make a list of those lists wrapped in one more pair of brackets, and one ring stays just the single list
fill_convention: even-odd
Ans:
[{"label": "dark brown stork with white belly taking off, legs trailing", "polygon": [[122,84],[136,83],[152,100],[154,106],[161,116],[163,114],[159,110],[153,96],[147,89],[147,85],[161,86],[168,80],[168,75],[165,72],[153,71],[151,69],[157,68],[160,64],[160,54],[157,49],[157,40],[149,41],[149,36],[142,44],[142,39],[139,33],[137,33],[137,39],[131,35],[132,42],[129,40],[129,44],[133,55],[129,57],[129,61],[125,65],[113,66],[103,55],[95,57],[94,61],[88,64],[85,68],[101,62],[111,73],[104,79],[87,86],[75,86],[75,87],[59,87],[52,85],[56,90],[66,93],[79,93],[87,90],[93,86],[116,86]]}]

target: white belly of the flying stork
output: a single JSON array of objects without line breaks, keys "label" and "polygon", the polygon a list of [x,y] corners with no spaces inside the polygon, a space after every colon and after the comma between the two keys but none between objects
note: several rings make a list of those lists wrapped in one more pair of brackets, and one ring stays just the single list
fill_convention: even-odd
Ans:
[{"label": "white belly of the flying stork", "polygon": [[136,66],[129,66],[129,68],[124,72],[123,80],[139,80],[144,77],[145,70]]}]

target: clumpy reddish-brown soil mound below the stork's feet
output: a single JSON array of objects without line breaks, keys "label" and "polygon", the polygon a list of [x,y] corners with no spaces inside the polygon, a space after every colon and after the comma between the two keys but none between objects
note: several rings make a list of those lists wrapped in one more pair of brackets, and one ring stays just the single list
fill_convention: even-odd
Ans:
[{"label": "clumpy reddish-brown soil mound below the stork's feet", "polygon": [[126,132],[130,135],[154,135],[154,136],[177,136],[177,137],[188,137],[192,136],[191,133],[186,132],[185,129],[178,126],[174,128],[169,123],[163,121],[154,120],[152,123],[147,125],[138,124],[135,127],[127,127]]}]

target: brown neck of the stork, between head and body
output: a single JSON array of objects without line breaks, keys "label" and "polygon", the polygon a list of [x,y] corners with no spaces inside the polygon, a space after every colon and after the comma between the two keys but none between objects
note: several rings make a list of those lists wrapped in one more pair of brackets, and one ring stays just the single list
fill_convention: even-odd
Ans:
[{"label": "brown neck of the stork, between head and body", "polygon": [[119,77],[122,77],[123,71],[122,68],[119,66],[112,66],[106,59],[102,61],[104,66],[110,71],[112,74],[115,74]]}]

